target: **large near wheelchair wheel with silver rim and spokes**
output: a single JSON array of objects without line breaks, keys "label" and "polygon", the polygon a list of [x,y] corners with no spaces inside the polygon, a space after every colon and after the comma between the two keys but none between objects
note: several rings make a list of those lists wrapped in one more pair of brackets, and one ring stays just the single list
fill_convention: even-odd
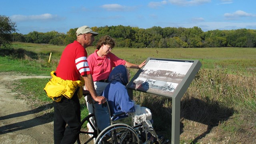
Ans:
[{"label": "large near wheelchair wheel with silver rim and spokes", "polygon": [[139,144],[140,140],[134,129],[127,124],[113,124],[97,136],[94,144]]}]

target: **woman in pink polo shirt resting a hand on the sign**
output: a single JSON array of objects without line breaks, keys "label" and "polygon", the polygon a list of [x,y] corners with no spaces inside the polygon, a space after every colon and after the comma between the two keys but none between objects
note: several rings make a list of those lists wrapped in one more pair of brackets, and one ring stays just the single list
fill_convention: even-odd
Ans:
[{"label": "woman in pink polo shirt resting a hand on the sign", "polygon": [[[116,55],[111,53],[111,50],[114,48],[114,46],[115,40],[113,38],[110,36],[103,36],[100,38],[96,45],[97,50],[95,50],[95,52],[90,54],[90,56],[87,58],[94,82],[94,88],[99,96],[101,96],[100,94],[108,85],[108,76],[114,67],[122,64],[127,68],[142,68],[146,62],[145,60],[141,64],[137,65],[118,58]],[[93,113],[92,104],[88,103],[87,97],[88,96],[85,96],[87,102],[86,104],[89,114],[91,114]]]}]

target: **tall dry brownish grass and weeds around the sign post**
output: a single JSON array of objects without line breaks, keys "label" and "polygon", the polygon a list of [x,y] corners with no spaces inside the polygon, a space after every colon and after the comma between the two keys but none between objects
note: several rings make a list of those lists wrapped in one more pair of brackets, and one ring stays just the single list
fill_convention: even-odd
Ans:
[{"label": "tall dry brownish grass and weeds around the sign post", "polygon": [[[201,69],[181,100],[180,143],[256,143],[255,74]],[[156,130],[170,136],[171,99],[137,92],[136,101],[151,109]]]}]

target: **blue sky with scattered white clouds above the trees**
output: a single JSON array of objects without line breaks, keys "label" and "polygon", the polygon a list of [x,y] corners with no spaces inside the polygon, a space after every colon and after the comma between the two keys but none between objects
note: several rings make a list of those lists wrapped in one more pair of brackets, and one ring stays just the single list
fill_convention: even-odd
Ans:
[{"label": "blue sky with scattered white clouds above the trees", "polygon": [[0,0],[18,33],[80,26],[256,29],[256,0]]}]

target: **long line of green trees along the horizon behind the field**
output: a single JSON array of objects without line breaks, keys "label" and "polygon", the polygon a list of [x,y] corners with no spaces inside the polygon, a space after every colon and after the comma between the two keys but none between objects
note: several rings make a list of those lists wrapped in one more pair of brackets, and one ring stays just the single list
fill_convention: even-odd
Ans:
[{"label": "long line of green trees along the horizon behind the field", "polygon": [[[16,23],[9,17],[0,15],[0,46],[9,42],[28,42],[37,44],[67,45],[76,40],[77,28],[68,32],[16,32]],[[175,28],[153,26],[138,28],[131,26],[101,26],[92,27],[99,32],[95,37],[97,42],[102,36],[109,35],[116,40],[116,47],[128,48],[204,48],[204,47],[256,47],[256,30],[209,30],[201,28]]]}]

